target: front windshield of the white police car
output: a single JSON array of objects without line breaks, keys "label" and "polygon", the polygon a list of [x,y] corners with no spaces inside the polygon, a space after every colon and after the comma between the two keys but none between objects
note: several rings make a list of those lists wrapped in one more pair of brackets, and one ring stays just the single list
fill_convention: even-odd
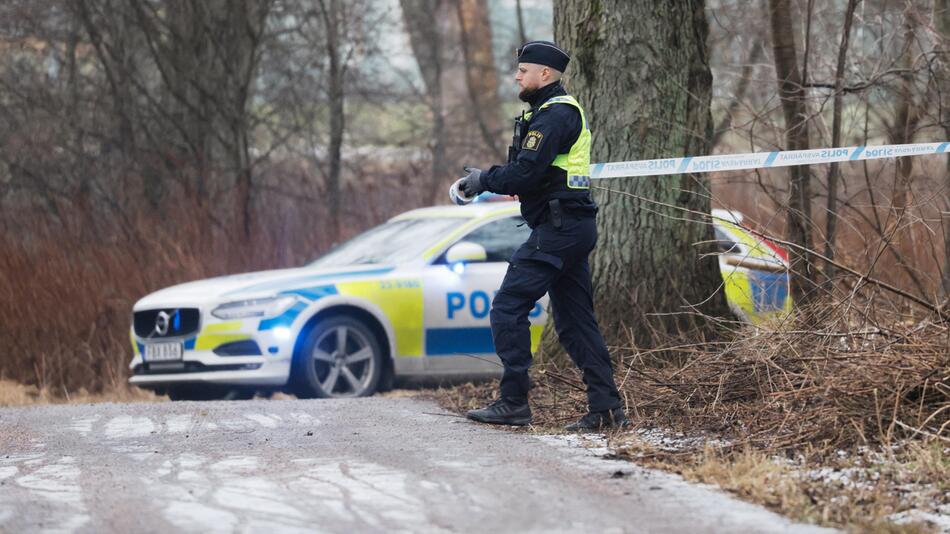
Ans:
[{"label": "front windshield of the white police car", "polygon": [[442,217],[388,222],[333,248],[310,266],[403,263],[419,257],[439,238],[467,220],[464,217]]}]

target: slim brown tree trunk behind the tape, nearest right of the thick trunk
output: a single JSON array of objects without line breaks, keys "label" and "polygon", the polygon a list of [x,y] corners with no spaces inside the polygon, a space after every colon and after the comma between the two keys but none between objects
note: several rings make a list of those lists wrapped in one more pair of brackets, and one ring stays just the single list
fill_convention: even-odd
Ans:
[{"label": "slim brown tree trunk behind the tape, nearest right of the thick trunk", "polygon": [[[769,19],[772,27],[772,47],[775,52],[775,74],[779,98],[785,116],[786,150],[808,149],[808,114],[805,108],[805,88],[798,67],[798,49],[792,24],[789,0],[769,0]],[[807,165],[788,168],[788,239],[812,250],[811,238],[811,174]],[[792,256],[792,296],[799,304],[811,299],[816,273],[812,254],[790,251]]]}]

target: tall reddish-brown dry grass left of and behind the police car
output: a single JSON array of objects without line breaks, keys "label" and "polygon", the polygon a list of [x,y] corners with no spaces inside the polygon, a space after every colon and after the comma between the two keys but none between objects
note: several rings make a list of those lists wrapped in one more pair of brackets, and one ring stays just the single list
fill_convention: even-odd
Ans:
[{"label": "tall reddish-brown dry grass left of and behind the police car", "polygon": [[[403,181],[393,172],[379,171],[377,178]],[[348,184],[339,238],[424,203],[417,193]],[[0,307],[0,377],[46,392],[30,395],[35,402],[58,402],[83,389],[127,398],[131,310],[146,294],[200,278],[302,265],[335,240],[314,231],[330,225],[327,211],[312,209],[311,199],[261,193],[247,238],[225,222],[226,210],[196,205],[186,191],[169,191],[155,209],[130,196],[136,199],[130,205],[142,209],[93,216],[89,206],[62,202],[51,211],[0,210],[0,300],[8,303]]]}]

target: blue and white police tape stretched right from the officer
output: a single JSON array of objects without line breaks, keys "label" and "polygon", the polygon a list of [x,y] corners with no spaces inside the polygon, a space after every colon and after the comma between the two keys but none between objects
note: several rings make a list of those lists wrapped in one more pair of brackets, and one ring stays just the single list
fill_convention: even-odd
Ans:
[{"label": "blue and white police tape stretched right from the officer", "polygon": [[813,165],[816,163],[945,154],[948,148],[950,148],[950,142],[912,143],[906,145],[815,148],[811,150],[786,150],[720,156],[687,156],[685,158],[618,161],[613,163],[594,163],[590,166],[590,177],[592,179],[626,178],[633,176],[662,176],[683,173],[769,169],[773,167],[791,167],[794,165]]}]

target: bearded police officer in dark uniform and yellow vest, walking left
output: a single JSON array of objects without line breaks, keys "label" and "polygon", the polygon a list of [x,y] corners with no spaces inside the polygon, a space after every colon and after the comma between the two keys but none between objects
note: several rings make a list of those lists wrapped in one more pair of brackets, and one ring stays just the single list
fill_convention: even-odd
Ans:
[{"label": "bearded police officer in dark uniform and yellow vest, walking left", "polygon": [[614,384],[610,354],[594,318],[587,257],[597,242],[597,206],[590,197],[590,129],[584,110],[561,85],[570,56],[549,41],[518,49],[519,98],[531,110],[515,119],[506,165],[466,167],[459,188],[517,195],[532,232],[512,255],[492,301],[495,350],[504,363],[500,398],[468,412],[483,423],[526,425],[531,333],[528,314],[545,293],[558,338],[581,369],[589,412],[566,428],[600,430],[629,424]]}]

